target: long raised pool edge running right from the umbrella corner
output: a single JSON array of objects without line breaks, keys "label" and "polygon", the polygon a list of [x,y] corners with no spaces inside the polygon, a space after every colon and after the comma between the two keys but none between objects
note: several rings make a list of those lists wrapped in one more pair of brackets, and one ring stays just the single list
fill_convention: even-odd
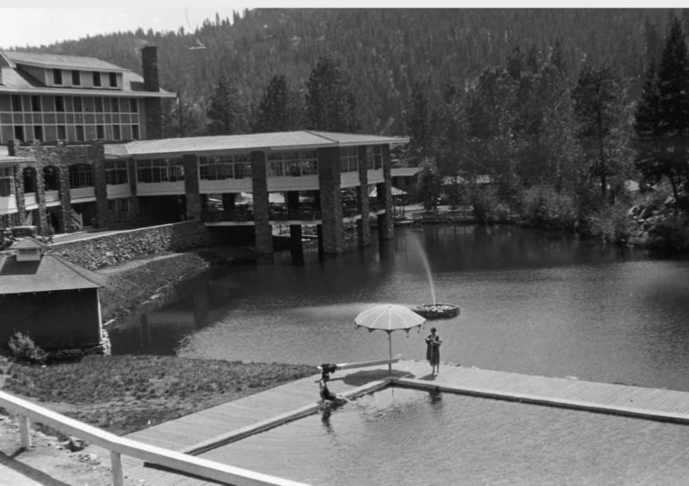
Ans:
[{"label": "long raised pool edge running right from the umbrella corner", "polygon": [[595,402],[558,399],[519,392],[503,392],[500,390],[490,390],[488,388],[475,388],[457,385],[441,385],[431,383],[429,381],[411,378],[390,377],[386,381],[389,385],[399,386],[400,388],[413,388],[414,390],[450,392],[455,394],[469,395],[471,397],[482,397],[504,401],[517,401],[520,403],[531,403],[533,405],[544,405],[555,408],[567,408],[570,410],[582,410],[585,412],[629,416],[635,419],[647,419],[653,421],[678,423],[681,425],[689,424],[689,414],[677,412],[661,412],[643,408],[625,407],[621,405],[604,405]]}]

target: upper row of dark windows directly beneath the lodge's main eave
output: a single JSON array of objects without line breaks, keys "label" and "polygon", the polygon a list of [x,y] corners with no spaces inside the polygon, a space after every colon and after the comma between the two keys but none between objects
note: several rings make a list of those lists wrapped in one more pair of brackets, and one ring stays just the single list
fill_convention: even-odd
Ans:
[{"label": "upper row of dark windows directly beneath the lodge's main eave", "polygon": [[[41,96],[39,94],[21,96],[21,94],[12,94],[11,107],[13,113],[29,111],[138,113],[138,99],[101,98],[93,96]],[[9,107],[0,105],[0,111],[8,112],[10,110]]]}]

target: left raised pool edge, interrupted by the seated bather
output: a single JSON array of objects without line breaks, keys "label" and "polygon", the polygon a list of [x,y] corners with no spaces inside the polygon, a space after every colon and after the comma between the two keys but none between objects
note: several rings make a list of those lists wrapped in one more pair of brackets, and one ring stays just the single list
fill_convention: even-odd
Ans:
[{"label": "left raised pool edge, interrupted by the seated bather", "polygon": [[[342,394],[345,397],[347,397],[347,399],[353,399],[359,397],[360,395],[373,393],[378,390],[382,390],[382,388],[387,388],[390,384],[391,381],[389,379],[371,381],[370,383],[366,383],[365,385],[361,385],[356,388],[352,388],[351,390],[347,390],[347,392]],[[226,432],[225,434],[220,434],[218,436],[211,437],[206,441],[198,442],[187,447],[183,447],[179,450],[179,452],[182,452],[183,454],[191,454],[192,456],[203,454],[204,452],[213,450],[216,447],[220,447],[225,444],[239,441],[241,439],[244,439],[245,437],[258,434],[260,432],[265,432],[266,430],[278,427],[279,425],[283,425],[285,423],[301,419],[302,417],[310,415],[313,412],[317,412],[318,410],[326,406],[327,405],[322,403],[321,401],[309,403],[300,408],[289,410],[289,412],[272,416],[269,419],[258,421],[256,423],[252,423],[251,425],[247,425],[246,427],[240,427],[239,429]]]}]

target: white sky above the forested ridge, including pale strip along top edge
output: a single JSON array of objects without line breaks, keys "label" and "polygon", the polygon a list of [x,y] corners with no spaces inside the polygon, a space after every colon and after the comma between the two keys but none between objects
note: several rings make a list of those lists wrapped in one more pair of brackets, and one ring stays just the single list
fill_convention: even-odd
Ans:
[{"label": "white sky above the forested ridge, including pale strip along top edge", "polygon": [[[236,0],[241,2],[243,0]],[[247,0],[251,1],[251,0]],[[232,21],[232,11],[243,12],[245,8],[256,7],[643,7],[648,1],[608,0],[608,1],[571,1],[544,2],[532,0],[349,0],[329,1],[292,0],[251,1],[251,4],[239,4],[233,0],[116,0],[112,4],[118,8],[93,8],[93,0],[62,0],[63,7],[54,8],[55,0],[0,0],[0,48],[25,47],[26,45],[48,45],[57,41],[80,39],[86,35],[107,34],[110,32],[143,30],[152,28],[157,31],[178,30],[181,26],[187,32],[193,32],[204,19],[220,18]],[[646,3],[646,5],[644,5]],[[677,7],[676,1],[663,1],[662,5],[653,7]]]}]

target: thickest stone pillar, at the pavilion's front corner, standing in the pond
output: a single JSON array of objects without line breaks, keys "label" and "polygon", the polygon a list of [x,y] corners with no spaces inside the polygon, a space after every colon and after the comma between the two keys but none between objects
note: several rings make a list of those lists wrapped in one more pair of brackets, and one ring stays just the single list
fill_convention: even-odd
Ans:
[{"label": "thickest stone pillar, at the pavilion's front corner, standing in the pond", "polygon": [[341,253],[345,240],[342,223],[342,192],[340,191],[340,149],[318,149],[318,188],[323,251]]}]

